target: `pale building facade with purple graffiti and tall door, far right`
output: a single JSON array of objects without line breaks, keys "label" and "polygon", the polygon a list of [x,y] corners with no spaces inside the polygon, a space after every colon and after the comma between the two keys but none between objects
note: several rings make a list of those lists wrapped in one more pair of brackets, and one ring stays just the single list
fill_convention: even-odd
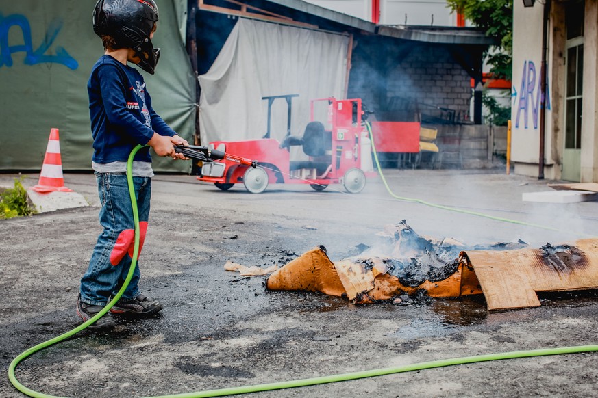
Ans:
[{"label": "pale building facade with purple graffiti and tall door, far right", "polygon": [[525,3],[514,1],[515,172],[598,181],[598,0]]}]

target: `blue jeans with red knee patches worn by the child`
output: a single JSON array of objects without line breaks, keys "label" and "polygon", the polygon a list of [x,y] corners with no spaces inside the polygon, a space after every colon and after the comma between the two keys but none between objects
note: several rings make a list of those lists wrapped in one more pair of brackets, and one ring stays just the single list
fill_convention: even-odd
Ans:
[{"label": "blue jeans with red knee patches worn by the child", "polygon": [[[105,306],[109,297],[116,295],[129,273],[134,248],[134,221],[127,176],[124,172],[96,173],[98,194],[101,202],[99,222],[103,232],[97,238],[89,267],[81,278],[81,299],[87,304]],[[147,230],[151,178],[133,177],[139,211],[140,251]],[[139,294],[141,274],[139,264],[123,299]]]}]

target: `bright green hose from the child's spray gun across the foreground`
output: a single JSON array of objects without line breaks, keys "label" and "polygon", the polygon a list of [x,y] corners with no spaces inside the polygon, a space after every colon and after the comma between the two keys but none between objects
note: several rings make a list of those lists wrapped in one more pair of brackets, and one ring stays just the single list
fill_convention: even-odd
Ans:
[{"label": "bright green hose from the child's spray gun across the foreground", "polygon": [[[369,127],[368,127],[369,128]],[[371,133],[371,130],[370,130]],[[372,141],[373,142],[373,141]],[[77,334],[78,332],[84,330],[92,323],[97,321],[100,317],[102,317],[105,313],[114,306],[114,304],[119,300],[121,295],[123,295],[125,289],[133,276],[133,272],[137,265],[136,258],[139,253],[139,215],[137,209],[137,200],[135,197],[135,190],[133,185],[133,177],[132,177],[132,164],[133,158],[138,150],[140,150],[142,146],[136,146],[131,154],[129,155],[129,160],[127,161],[127,181],[129,183],[129,195],[131,197],[131,204],[132,204],[132,211],[133,217],[135,222],[135,241],[134,241],[134,250],[133,250],[133,258],[131,262],[131,267],[129,268],[129,274],[127,274],[127,278],[123,283],[123,287],[119,290],[119,293],[114,296],[114,298],[106,304],[106,306],[92,319],[89,319],[85,323],[77,326],[73,330],[70,330],[60,336],[54,337],[48,341],[40,343],[34,347],[27,349],[23,353],[19,354],[12,362],[10,362],[10,366],[8,367],[8,378],[12,385],[21,393],[25,395],[29,395],[29,397],[36,397],[36,398],[61,398],[56,395],[48,395],[44,393],[38,393],[30,388],[23,386],[14,375],[14,371],[17,365],[25,360],[25,358],[31,356],[32,354],[40,351],[41,349],[47,348],[51,345],[59,343],[64,339],[68,339],[69,337]],[[374,152],[375,153],[375,152]],[[377,159],[376,159],[377,161]],[[382,173],[380,173],[382,176]],[[382,177],[384,178],[384,177]],[[386,184],[386,181],[384,181]],[[445,207],[440,207],[445,208]],[[534,356],[549,356],[549,355],[560,355],[560,354],[577,354],[582,352],[590,352],[590,351],[598,351],[598,345],[581,345],[575,347],[558,347],[558,348],[547,348],[547,349],[534,349],[528,351],[513,351],[513,352],[503,352],[499,354],[486,354],[486,355],[477,355],[477,356],[467,356],[462,358],[451,358],[445,360],[436,360],[431,362],[421,362],[417,364],[408,364],[402,365],[398,367],[388,367],[388,368],[381,368],[381,369],[373,369],[369,371],[358,371],[353,373],[340,373],[337,375],[327,375],[322,377],[312,377],[309,379],[301,379],[301,380],[290,380],[286,382],[275,382],[275,383],[268,383],[268,384],[256,384],[253,386],[240,386],[240,387],[231,387],[231,388],[221,388],[219,390],[205,390],[199,391],[195,393],[182,393],[182,394],[174,394],[174,395],[160,395],[152,398],[200,398],[200,397],[222,397],[225,395],[235,395],[235,394],[247,394],[247,393],[258,393],[260,391],[269,391],[269,390],[280,390],[283,388],[297,388],[297,387],[304,387],[304,386],[314,386],[317,384],[327,384],[327,383],[334,383],[334,382],[343,382],[348,380],[358,380],[363,379],[366,377],[377,377],[382,375],[391,375],[395,373],[403,373],[409,371],[421,371],[424,369],[432,369],[438,367],[448,367],[452,365],[458,364],[470,364],[476,362],[487,362],[492,360],[503,360],[503,359],[514,359],[514,358],[529,358]]]}]

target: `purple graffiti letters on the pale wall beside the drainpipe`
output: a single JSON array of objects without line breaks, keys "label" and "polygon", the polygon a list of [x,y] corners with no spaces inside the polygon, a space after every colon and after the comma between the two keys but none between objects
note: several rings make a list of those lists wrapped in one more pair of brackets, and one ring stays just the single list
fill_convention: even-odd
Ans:
[{"label": "purple graffiti letters on the pale wall beside the drainpipe", "polygon": [[[519,94],[515,86],[512,88],[513,108],[516,109],[515,128],[519,129],[519,123],[523,119],[523,128],[528,127],[528,116],[532,117],[534,129],[538,129],[538,116],[540,114],[540,104],[543,103],[543,92],[540,77],[542,70],[536,73],[536,65],[533,61],[523,62],[523,75],[521,76],[521,88]],[[550,109],[550,90],[548,88],[548,79],[546,82],[546,109]]]}]

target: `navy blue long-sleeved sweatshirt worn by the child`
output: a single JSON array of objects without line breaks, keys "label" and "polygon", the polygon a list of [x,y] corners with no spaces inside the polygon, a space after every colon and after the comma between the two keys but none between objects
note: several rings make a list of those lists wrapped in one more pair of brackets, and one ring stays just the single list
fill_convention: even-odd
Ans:
[{"label": "navy blue long-sleeved sweatshirt worn by the child", "polygon": [[[175,135],[151,107],[151,98],[142,75],[110,55],[95,63],[87,83],[89,114],[96,163],[127,161],[137,145],[145,145],[153,136]],[[151,162],[149,148],[142,148],[136,161]]]}]

